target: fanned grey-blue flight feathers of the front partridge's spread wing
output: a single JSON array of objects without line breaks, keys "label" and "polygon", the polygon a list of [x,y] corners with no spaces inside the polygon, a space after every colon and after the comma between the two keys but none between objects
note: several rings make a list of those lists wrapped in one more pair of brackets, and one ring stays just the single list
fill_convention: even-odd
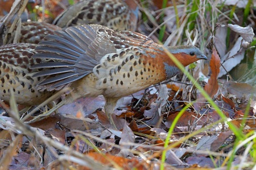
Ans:
[{"label": "fanned grey-blue flight feathers of the front partridge's spread wing", "polygon": [[46,59],[31,69],[43,69],[34,76],[47,76],[38,84],[44,90],[59,90],[92,73],[106,53],[115,52],[108,39],[102,40],[89,25],[69,27],[46,37],[36,48],[33,58]]}]

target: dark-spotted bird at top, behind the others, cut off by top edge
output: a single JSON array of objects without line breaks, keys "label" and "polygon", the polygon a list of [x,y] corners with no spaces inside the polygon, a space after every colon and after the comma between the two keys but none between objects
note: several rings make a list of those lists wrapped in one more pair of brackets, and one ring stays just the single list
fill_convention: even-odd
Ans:
[{"label": "dark-spotted bird at top, behind the others, cut off by top edge", "polygon": [[135,31],[139,18],[138,0],[84,0],[68,7],[53,21],[64,28],[100,24],[117,31]]}]

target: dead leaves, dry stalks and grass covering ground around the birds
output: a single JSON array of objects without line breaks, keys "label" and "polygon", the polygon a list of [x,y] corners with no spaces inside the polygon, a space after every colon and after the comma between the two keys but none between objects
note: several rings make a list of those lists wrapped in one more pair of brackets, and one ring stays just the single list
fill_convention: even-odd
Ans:
[{"label": "dead leaves, dry stalks and grass covering ground around the birds", "polygon": [[[1,44],[22,2],[0,23]],[[59,8],[53,2],[29,13],[51,20]],[[137,31],[164,45],[199,46],[209,62],[121,99],[114,112],[120,131],[109,128],[102,96],[64,105],[32,124],[14,100],[10,107],[2,103],[1,169],[255,168],[255,2],[165,2],[139,3]]]}]

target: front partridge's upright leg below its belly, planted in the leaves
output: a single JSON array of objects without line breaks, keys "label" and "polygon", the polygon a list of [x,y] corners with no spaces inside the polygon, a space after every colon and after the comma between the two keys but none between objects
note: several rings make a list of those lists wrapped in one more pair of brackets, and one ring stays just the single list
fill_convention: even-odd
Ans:
[{"label": "front partridge's upright leg below its belly, planted in the leaves", "polygon": [[106,104],[105,104],[105,113],[106,116],[108,117],[111,126],[114,129],[117,129],[117,127],[115,126],[115,122],[113,120],[112,114],[114,112],[115,109],[115,105],[117,105],[117,101],[119,100],[119,97],[105,97],[106,100]]}]

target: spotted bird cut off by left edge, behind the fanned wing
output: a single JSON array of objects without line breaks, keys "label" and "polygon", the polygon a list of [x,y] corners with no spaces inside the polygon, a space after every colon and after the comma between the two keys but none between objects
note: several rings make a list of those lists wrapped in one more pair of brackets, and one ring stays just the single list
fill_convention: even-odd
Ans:
[{"label": "spotted bird cut off by left edge, behind the fanned wing", "polygon": [[[36,90],[42,78],[33,78],[39,70],[31,70],[41,59],[31,58],[36,52],[37,44],[17,43],[0,46],[0,99],[9,103],[13,91],[15,101],[22,105],[39,105],[48,99],[54,91]],[[40,100],[39,100],[40,99]]]}]

